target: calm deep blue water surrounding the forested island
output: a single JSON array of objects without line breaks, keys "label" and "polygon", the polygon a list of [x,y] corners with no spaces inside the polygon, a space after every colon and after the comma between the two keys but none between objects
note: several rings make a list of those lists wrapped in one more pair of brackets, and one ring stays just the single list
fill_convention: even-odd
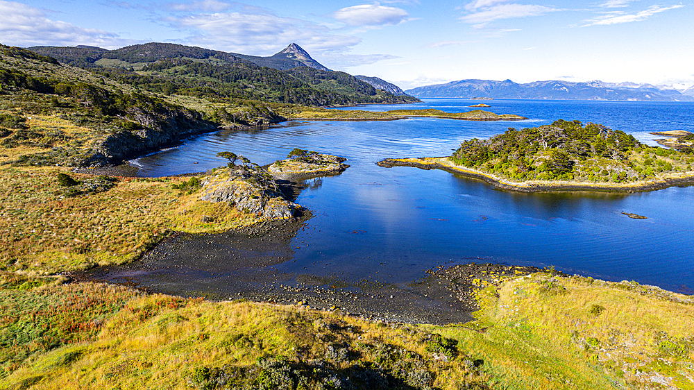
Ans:
[{"label": "calm deep blue water surrounding the forested island", "polygon": [[[429,99],[362,110],[473,110],[480,103]],[[578,119],[631,133],[694,132],[694,103],[482,101],[527,121],[450,119],[290,122],[266,130],[220,131],[133,160],[141,176],[205,171],[224,165],[219,151],[268,164],[296,147],[348,158],[340,176],[310,180],[297,199],[314,218],[298,232],[294,260],[280,271],[407,282],[445,262],[555,266],[605,280],[636,280],[691,294],[694,289],[694,187],[637,194],[518,194],[443,171],[381,168],[389,157],[450,155],[460,142],[509,127]],[[629,219],[622,212],[648,219]]]}]

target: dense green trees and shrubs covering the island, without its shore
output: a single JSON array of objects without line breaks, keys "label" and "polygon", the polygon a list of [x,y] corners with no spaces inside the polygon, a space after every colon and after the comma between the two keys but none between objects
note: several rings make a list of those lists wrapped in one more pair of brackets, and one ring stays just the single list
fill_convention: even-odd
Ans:
[{"label": "dense green trees and shrubs covering the island, without its shore", "polygon": [[657,173],[691,171],[691,149],[650,147],[600,124],[559,119],[461,144],[452,160],[512,180],[628,183]]}]

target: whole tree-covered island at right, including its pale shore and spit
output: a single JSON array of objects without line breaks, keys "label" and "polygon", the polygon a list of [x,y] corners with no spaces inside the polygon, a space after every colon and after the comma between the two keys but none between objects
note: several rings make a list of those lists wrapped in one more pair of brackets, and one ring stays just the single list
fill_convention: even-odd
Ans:
[{"label": "whole tree-covered island at right, including its pale shore and spit", "polygon": [[692,149],[641,144],[600,124],[551,125],[463,142],[448,157],[400,158],[381,167],[443,169],[520,192],[635,192],[694,183]]}]

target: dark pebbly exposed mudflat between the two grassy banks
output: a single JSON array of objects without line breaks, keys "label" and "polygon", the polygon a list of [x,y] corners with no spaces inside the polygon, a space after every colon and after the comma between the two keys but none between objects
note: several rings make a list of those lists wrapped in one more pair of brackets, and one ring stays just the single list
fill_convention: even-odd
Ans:
[{"label": "dark pebbly exposed mudflat between the two grassy banks", "polygon": [[273,266],[294,261],[291,238],[305,228],[310,217],[305,213],[298,219],[270,221],[217,235],[180,233],[131,264],[70,276],[78,281],[119,283],[179,296],[305,305],[367,319],[443,325],[473,320],[471,312],[477,305],[471,293],[481,286],[481,280],[493,284],[502,272],[538,271],[498,264],[442,265],[423,272],[423,278],[399,284],[346,280],[337,275],[326,278],[310,269],[303,273],[278,271]]}]

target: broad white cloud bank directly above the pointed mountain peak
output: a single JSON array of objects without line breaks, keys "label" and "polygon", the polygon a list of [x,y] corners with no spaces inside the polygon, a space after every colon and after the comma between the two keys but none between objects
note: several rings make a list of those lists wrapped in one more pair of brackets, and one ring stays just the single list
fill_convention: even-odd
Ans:
[{"label": "broad white cloud bank directly above the pointed mountain peak", "polygon": [[309,51],[344,50],[361,42],[325,26],[289,17],[245,12],[216,12],[164,19],[190,31],[186,42],[211,49],[266,56],[296,42]]}]

